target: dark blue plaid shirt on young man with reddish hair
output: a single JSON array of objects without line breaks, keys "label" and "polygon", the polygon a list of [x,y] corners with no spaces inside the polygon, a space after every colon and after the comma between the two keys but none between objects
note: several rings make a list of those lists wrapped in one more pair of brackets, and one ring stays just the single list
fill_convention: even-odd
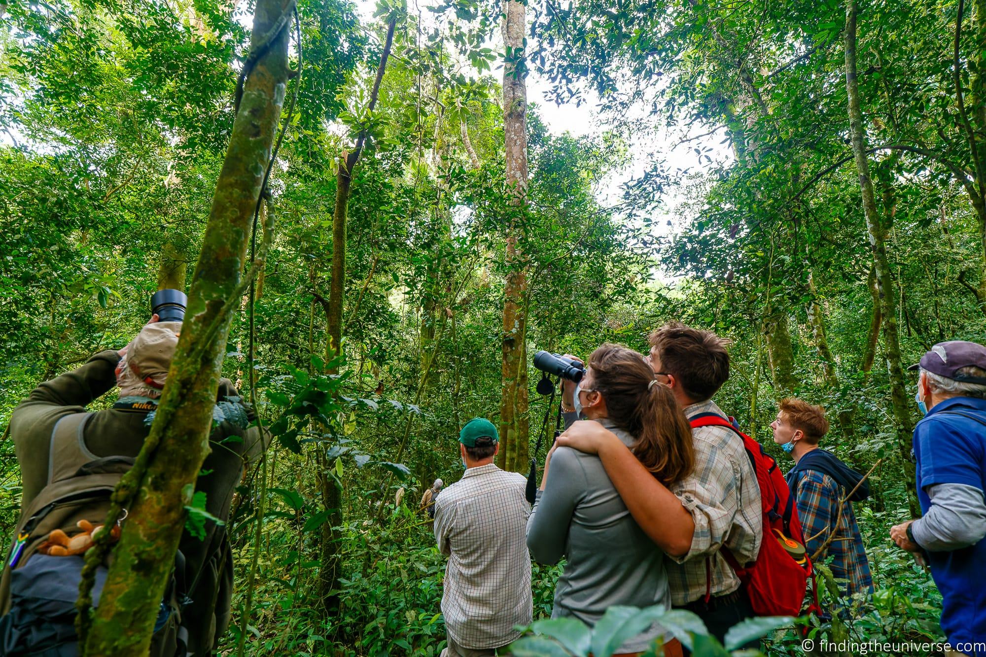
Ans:
[{"label": "dark blue plaid shirt on young man with reddish hair", "polygon": [[[828,540],[835,524],[835,516],[838,515],[837,504],[843,493],[848,491],[843,491],[828,474],[816,470],[805,470],[795,475],[797,479],[792,492],[798,505],[798,518],[808,553],[814,554]],[[847,580],[839,582],[843,594],[851,596],[854,593],[873,593],[870,562],[866,558],[863,537],[860,536],[856,514],[853,513],[853,505],[849,500],[842,503],[842,516],[839,518],[835,538],[818,555],[817,561],[821,563],[829,556],[833,557],[829,564],[832,575],[837,580]]]}]

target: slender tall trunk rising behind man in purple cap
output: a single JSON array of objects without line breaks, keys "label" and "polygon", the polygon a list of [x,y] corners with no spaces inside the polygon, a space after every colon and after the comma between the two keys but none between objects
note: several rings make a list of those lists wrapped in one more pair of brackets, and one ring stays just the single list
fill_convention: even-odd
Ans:
[{"label": "slender tall trunk rising behind man in purple cap", "polygon": [[856,73],[856,0],[846,3],[846,92],[849,98],[849,133],[852,140],[856,170],[859,172],[860,191],[863,197],[863,213],[866,216],[867,231],[877,281],[880,286],[880,305],[883,316],[883,350],[886,355],[887,371],[890,378],[890,399],[897,429],[897,449],[900,452],[907,485],[907,500],[911,515],[918,517],[920,507],[915,491],[914,468],[911,465],[911,432],[913,421],[911,406],[907,398],[904,370],[900,364],[900,342],[897,336],[897,300],[893,272],[886,256],[883,229],[877,211],[877,197],[870,177],[870,162],[867,157],[866,135],[863,128],[863,110],[860,105],[859,79]]}]

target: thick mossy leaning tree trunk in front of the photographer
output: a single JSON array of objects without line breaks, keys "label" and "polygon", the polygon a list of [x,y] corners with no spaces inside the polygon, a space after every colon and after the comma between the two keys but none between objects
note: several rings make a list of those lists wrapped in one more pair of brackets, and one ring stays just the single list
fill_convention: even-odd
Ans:
[{"label": "thick mossy leaning tree trunk in front of the photographer", "polygon": [[[250,48],[272,29],[287,0],[257,0]],[[134,470],[147,464],[113,551],[86,641],[89,655],[146,656],[184,528],[184,505],[206,454],[219,376],[260,195],[288,82],[287,25],[246,79],[202,251],[154,425]],[[156,449],[155,449],[156,446]],[[146,461],[146,459],[150,461]],[[142,459],[145,459],[142,463]]]}]

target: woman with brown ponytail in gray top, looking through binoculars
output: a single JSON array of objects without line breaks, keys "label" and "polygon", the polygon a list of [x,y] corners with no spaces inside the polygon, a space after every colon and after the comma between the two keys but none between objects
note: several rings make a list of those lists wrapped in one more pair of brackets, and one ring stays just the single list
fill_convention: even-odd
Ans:
[{"label": "woman with brown ponytail in gray top, looking through binoculars", "polygon": [[[695,448],[688,420],[636,351],[617,344],[596,349],[573,402],[665,486],[691,474]],[[548,452],[528,520],[528,549],[541,563],[567,560],[555,586],[553,619],[574,617],[595,626],[614,605],[671,606],[665,553],[634,521],[595,455],[570,447]],[[659,638],[667,657],[681,655],[680,643],[660,622],[627,637],[615,652],[638,655]]]}]

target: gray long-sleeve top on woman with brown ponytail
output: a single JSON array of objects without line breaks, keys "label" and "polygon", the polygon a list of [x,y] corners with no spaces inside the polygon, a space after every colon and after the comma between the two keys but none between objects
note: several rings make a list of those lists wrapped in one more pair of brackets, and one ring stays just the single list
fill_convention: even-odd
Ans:
[{"label": "gray long-sleeve top on woman with brown ponytail", "polygon": [[[628,447],[636,442],[608,419],[599,422]],[[598,456],[555,450],[528,519],[528,550],[541,563],[568,559],[551,618],[595,625],[613,605],[670,607],[665,554],[637,526]],[[616,652],[645,650],[666,631],[655,623]]]}]

